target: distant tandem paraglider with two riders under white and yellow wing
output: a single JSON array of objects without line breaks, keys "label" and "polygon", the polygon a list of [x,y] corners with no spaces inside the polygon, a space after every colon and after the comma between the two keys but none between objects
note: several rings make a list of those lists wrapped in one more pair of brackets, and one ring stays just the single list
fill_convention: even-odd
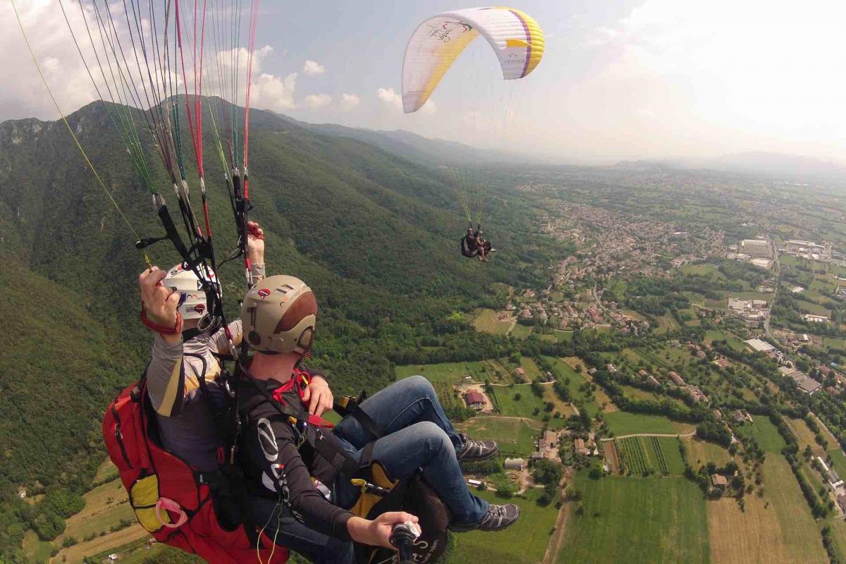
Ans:
[{"label": "distant tandem paraglider with two riders under white and yellow wing", "polygon": [[[541,26],[530,15],[514,8],[466,8],[437,14],[417,26],[405,48],[403,61],[403,109],[417,112],[437,89],[459,55],[472,41],[483,36],[499,60],[503,79],[522,79],[541,62],[544,37]],[[480,92],[480,95],[484,92]],[[504,105],[503,105],[504,106]],[[511,108],[504,107],[505,111]],[[482,119],[489,118],[482,116]],[[506,129],[506,128],[502,128]],[[501,131],[507,135],[508,131]],[[456,167],[446,167],[464,215],[470,222],[461,238],[462,255],[486,261],[492,246],[481,237],[479,185]],[[476,223],[475,231],[473,223]]]}]

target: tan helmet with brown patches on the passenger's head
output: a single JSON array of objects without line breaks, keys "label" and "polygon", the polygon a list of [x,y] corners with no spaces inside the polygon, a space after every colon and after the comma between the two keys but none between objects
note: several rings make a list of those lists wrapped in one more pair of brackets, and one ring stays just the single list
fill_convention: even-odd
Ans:
[{"label": "tan helmet with brown patches on the passenger's head", "polygon": [[315,294],[295,277],[267,277],[247,292],[241,304],[244,336],[258,353],[305,355],[316,322]]}]

